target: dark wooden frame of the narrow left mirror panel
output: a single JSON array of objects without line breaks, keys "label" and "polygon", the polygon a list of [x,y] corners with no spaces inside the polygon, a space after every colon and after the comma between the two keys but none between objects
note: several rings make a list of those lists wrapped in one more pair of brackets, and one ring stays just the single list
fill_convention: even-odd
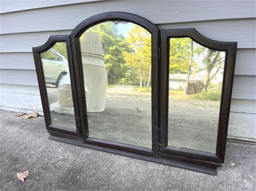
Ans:
[{"label": "dark wooden frame of the narrow left mirror panel", "polygon": [[[57,42],[66,43],[68,68],[70,71],[71,89],[72,89],[73,105],[74,105],[74,112],[75,112],[76,129],[54,125],[52,124],[52,120],[51,120],[50,105],[48,102],[48,95],[47,95],[47,89],[46,89],[46,83],[45,83],[45,76],[43,72],[43,63],[41,59],[41,53],[48,51],[48,49],[52,48]],[[33,50],[33,56],[34,56],[35,66],[36,66],[38,87],[41,94],[43,114],[45,115],[45,123],[46,123],[46,128],[48,132],[59,132],[59,133],[65,133],[67,135],[81,136],[75,78],[72,75],[73,59],[72,59],[70,36],[68,35],[67,36],[50,36],[48,41],[45,44],[43,44],[40,47],[33,47],[32,50]]]}]

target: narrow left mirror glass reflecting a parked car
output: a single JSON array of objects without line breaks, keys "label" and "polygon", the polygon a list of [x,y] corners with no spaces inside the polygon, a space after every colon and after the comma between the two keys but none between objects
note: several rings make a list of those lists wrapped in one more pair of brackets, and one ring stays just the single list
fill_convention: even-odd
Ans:
[{"label": "narrow left mirror glass reflecting a parked car", "polygon": [[65,42],[41,53],[52,124],[76,129]]}]

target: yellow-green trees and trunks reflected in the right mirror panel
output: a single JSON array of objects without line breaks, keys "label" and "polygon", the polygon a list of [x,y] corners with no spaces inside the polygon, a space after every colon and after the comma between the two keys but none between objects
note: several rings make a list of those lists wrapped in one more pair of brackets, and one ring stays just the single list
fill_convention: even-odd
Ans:
[{"label": "yellow-green trees and trunks reflected in the right mirror panel", "polygon": [[170,73],[187,74],[185,94],[189,93],[190,76],[193,73],[205,71],[201,88],[205,92],[220,69],[223,68],[224,58],[220,51],[201,46],[190,38],[170,39]]}]

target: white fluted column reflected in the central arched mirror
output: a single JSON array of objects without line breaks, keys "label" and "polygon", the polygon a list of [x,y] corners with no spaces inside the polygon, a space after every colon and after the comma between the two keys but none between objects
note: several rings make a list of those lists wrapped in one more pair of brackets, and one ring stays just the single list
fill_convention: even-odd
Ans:
[{"label": "white fluted column reflected in the central arched mirror", "polygon": [[107,70],[100,36],[97,33],[85,32],[80,38],[80,44],[87,89],[87,112],[102,112],[106,104]]}]

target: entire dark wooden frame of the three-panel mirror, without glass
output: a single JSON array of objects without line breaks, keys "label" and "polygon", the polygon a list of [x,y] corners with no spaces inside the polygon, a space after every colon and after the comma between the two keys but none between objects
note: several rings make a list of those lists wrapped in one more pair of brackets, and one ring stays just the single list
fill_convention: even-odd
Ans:
[{"label": "entire dark wooden frame of the three-panel mirror, without glass", "polygon": [[[106,21],[132,22],[147,29],[147,31],[151,33],[152,149],[91,138],[88,136],[86,97],[83,83],[83,68],[79,38],[81,34],[88,28]],[[167,145],[169,115],[169,97],[167,93],[167,89],[169,89],[168,39],[170,37],[190,37],[195,42],[205,47],[215,49],[216,51],[226,52],[216,153],[175,148]],[[45,86],[45,77],[43,76],[43,66],[40,53],[50,49],[56,42],[66,42],[76,130],[51,124],[50,107],[48,104],[48,96]],[[193,28],[160,31],[155,24],[147,21],[145,18],[131,13],[109,12],[97,14],[96,16],[85,19],[85,21],[81,22],[75,29],[73,29],[70,35],[50,36],[45,44],[40,47],[33,48],[38,86],[41,94],[43,112],[45,114],[45,123],[47,131],[50,133],[49,139],[216,175],[216,168],[220,167],[224,162],[236,49],[236,42],[213,41],[202,36]]]}]

